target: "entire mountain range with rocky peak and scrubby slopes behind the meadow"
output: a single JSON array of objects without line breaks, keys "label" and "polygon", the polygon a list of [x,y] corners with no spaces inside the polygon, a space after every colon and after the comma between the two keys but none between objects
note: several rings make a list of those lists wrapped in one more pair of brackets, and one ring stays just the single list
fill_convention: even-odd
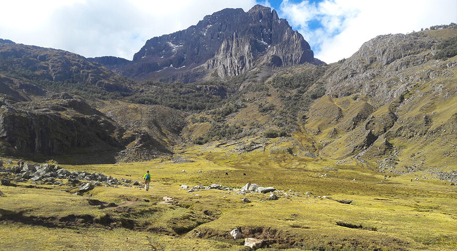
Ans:
[{"label": "entire mountain range with rocky peak and scrubby slopes behind the meadow", "polygon": [[3,43],[2,153],[119,162],[229,144],[239,154],[449,172],[455,37],[455,26],[381,35],[327,65],[274,10],[255,6],[151,38],[132,61]]}]

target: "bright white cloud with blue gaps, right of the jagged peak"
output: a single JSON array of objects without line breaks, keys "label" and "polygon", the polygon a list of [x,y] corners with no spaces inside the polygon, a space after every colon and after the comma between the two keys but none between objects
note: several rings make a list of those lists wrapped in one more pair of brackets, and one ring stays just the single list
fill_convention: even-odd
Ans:
[{"label": "bright white cloud with blue gaps, right of the jagged peak", "polygon": [[[315,57],[335,62],[350,57],[376,35],[457,22],[457,1],[324,0],[315,4],[284,0],[279,14],[303,34]],[[310,24],[316,20],[321,28],[313,30]]]}]

